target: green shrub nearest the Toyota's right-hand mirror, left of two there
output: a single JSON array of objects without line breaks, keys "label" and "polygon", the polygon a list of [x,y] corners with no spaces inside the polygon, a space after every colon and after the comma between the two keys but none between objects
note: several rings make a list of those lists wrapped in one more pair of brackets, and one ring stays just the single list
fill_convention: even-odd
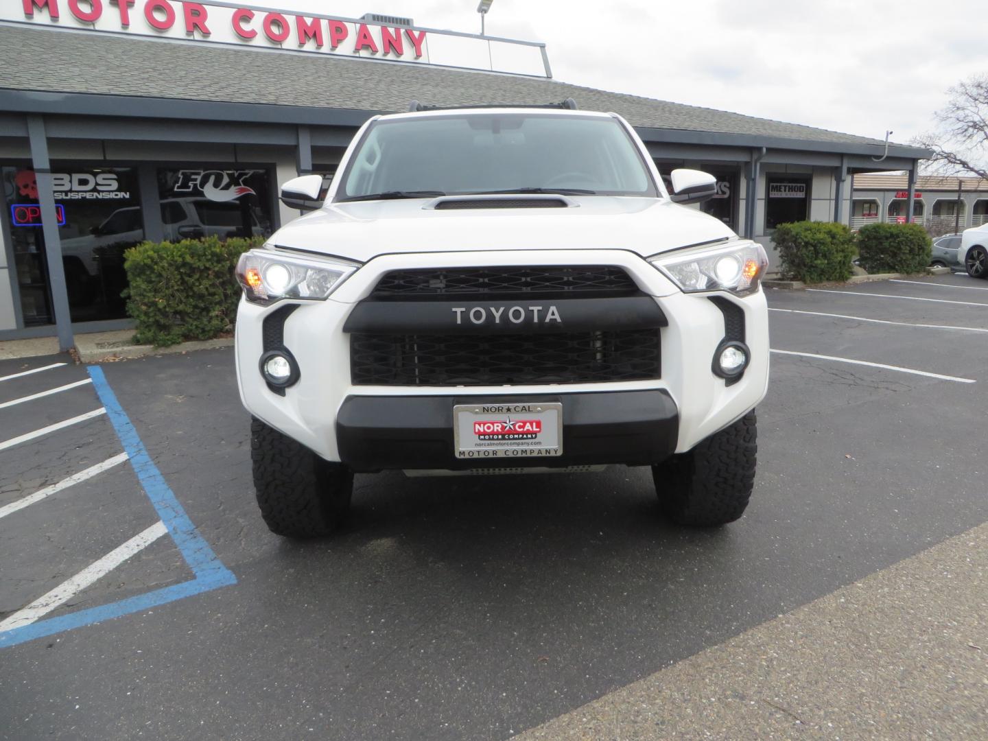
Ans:
[{"label": "green shrub nearest the Toyota's right-hand mirror, left of two there", "polygon": [[796,221],[780,224],[772,235],[782,276],[805,283],[847,281],[856,253],[855,235],[844,224]]}]

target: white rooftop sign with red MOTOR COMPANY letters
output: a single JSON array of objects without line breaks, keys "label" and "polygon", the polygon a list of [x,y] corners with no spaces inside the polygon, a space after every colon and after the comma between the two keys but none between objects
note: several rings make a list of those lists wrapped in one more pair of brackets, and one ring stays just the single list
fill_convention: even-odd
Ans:
[{"label": "white rooftop sign with red MOTOR COMPANY letters", "polygon": [[0,0],[0,20],[135,36],[429,61],[426,32],[183,0]]}]

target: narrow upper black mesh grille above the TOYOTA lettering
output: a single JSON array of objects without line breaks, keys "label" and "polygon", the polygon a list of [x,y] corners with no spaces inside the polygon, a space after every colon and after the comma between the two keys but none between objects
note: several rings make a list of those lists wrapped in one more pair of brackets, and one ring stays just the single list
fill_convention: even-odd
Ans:
[{"label": "narrow upper black mesh grille above the TOYOTA lettering", "polygon": [[496,295],[498,298],[603,297],[633,295],[638,287],[622,269],[611,265],[399,270],[385,274],[372,298]]}]

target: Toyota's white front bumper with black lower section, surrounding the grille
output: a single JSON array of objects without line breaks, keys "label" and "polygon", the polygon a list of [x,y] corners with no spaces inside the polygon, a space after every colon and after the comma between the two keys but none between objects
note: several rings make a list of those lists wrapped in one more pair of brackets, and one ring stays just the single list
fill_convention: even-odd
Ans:
[{"label": "Toyota's white front bumper with black lower section, surrounding the grille", "polygon": [[[375,258],[354,274],[325,301],[279,301],[271,306],[259,306],[241,301],[236,325],[237,377],[244,406],[255,417],[280,430],[323,458],[347,460],[360,469],[402,467],[408,469],[452,467],[453,402],[472,403],[481,398],[547,399],[563,401],[564,425],[583,424],[578,416],[584,410],[586,419],[597,420],[586,430],[574,435],[594,441],[581,452],[565,445],[569,431],[564,427],[565,463],[571,465],[571,453],[580,453],[581,461],[593,463],[655,462],[669,453],[692,450],[700,441],[730,425],[755,407],[765,396],[769,375],[768,308],[765,295],[759,291],[737,297],[727,293],[684,293],[668,281],[641,257],[623,250],[580,250],[581,264],[617,265],[623,268],[639,288],[654,300],[668,320],[661,330],[662,373],[660,378],[619,382],[586,382],[558,385],[507,386],[393,386],[354,384],[350,368],[350,336],[344,325],[353,309],[364,299],[380,276],[391,270],[408,267],[474,267],[490,265],[570,265],[576,262],[571,250],[505,250],[503,252],[428,253],[416,255],[385,255]],[[520,254],[521,253],[521,254]],[[711,362],[725,336],[725,314],[711,298],[729,301],[744,315],[745,343],[751,351],[751,362],[740,380],[727,383],[711,372]],[[297,383],[280,395],[270,389],[258,371],[264,353],[264,319],[286,306],[297,305],[284,323],[284,346],[293,354],[300,369]],[[625,396],[629,392],[647,392],[648,396]],[[654,394],[668,399],[670,407],[660,409]],[[594,398],[593,401],[588,399]],[[611,407],[608,398],[650,399],[643,402],[645,416],[627,416],[623,412],[613,419],[601,415]],[[383,401],[375,401],[381,399]],[[567,399],[574,403],[567,403]],[[357,401],[360,400],[360,401]],[[598,407],[601,404],[604,409]],[[651,406],[649,406],[651,404]],[[395,439],[400,451],[390,452],[390,444],[374,444],[371,453],[355,450],[362,440],[388,440],[390,415],[404,414],[405,408],[416,409],[428,419],[421,440],[421,449],[429,459],[409,456],[416,450],[414,440],[406,432]],[[621,407],[623,409],[623,407]],[[367,410],[381,419],[368,420]],[[670,411],[671,410],[671,411]],[[633,411],[633,410],[632,410]],[[591,413],[592,412],[592,413]],[[650,416],[649,416],[650,415]],[[670,416],[673,420],[670,421]],[[339,424],[338,424],[339,419]],[[661,423],[661,424],[660,424]],[[593,434],[598,425],[614,427],[606,435]],[[624,432],[617,426],[628,425]],[[445,430],[439,428],[444,427]],[[649,428],[647,434],[642,426]],[[659,429],[661,428],[661,429]],[[399,428],[402,429],[402,428]],[[406,431],[412,428],[404,428]],[[584,432],[587,434],[584,435]],[[611,434],[615,441],[610,441]],[[626,433],[631,441],[628,450],[617,444]],[[642,454],[643,440],[651,436],[654,453]],[[353,441],[358,441],[355,445]],[[670,440],[674,441],[670,443]],[[367,446],[365,446],[367,447]],[[590,448],[600,455],[590,460]],[[434,452],[433,452],[434,451]],[[448,465],[438,465],[436,458],[446,456]],[[540,465],[546,465],[546,458]],[[375,462],[376,461],[376,462]],[[486,466],[486,463],[482,465]],[[517,463],[516,463],[517,465]]]}]

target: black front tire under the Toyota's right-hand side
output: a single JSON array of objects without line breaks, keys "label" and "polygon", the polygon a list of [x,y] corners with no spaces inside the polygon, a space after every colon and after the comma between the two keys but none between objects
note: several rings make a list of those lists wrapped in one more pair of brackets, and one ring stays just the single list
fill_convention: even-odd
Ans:
[{"label": "black front tire under the Toyota's right-hand side", "polygon": [[744,514],[755,484],[755,411],[711,435],[689,453],[652,466],[663,512],[675,523],[726,525]]}]

